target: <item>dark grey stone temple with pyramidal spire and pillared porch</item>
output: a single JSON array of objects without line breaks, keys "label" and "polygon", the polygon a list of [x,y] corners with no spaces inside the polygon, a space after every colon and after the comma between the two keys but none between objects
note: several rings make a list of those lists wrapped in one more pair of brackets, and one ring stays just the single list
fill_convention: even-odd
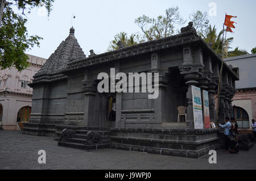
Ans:
[{"label": "dark grey stone temple with pyramidal spire and pillared porch", "polygon": [[[88,131],[101,133],[102,146],[147,153],[199,158],[219,148],[219,129],[195,129],[192,86],[209,92],[210,121],[217,124],[215,100],[221,57],[189,25],[179,35],[86,57],[71,28],[30,86],[34,89],[30,123],[24,134],[59,139],[64,128],[75,130],[59,145],[84,149]],[[159,96],[148,93],[99,93],[99,73],[159,73]],[[238,75],[224,63],[218,123],[233,116],[232,98]],[[109,120],[110,99],[115,119]],[[178,122],[177,107],[187,119]],[[66,140],[67,141],[67,140]],[[104,146],[105,143],[105,146]],[[84,145],[85,146],[85,145]]]}]

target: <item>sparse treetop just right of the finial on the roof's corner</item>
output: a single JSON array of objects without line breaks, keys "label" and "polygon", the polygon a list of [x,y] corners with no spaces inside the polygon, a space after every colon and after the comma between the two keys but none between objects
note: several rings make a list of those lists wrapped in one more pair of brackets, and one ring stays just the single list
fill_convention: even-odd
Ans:
[{"label": "sparse treetop just right of the finial on the roof's corner", "polygon": [[209,32],[209,19],[207,12],[197,10],[193,14],[189,15],[189,20],[193,22],[193,27],[199,35],[207,35]]}]

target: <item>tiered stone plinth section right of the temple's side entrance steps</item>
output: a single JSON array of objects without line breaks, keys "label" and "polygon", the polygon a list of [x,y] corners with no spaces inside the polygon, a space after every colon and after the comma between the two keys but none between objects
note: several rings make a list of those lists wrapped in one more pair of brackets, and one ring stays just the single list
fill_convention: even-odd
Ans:
[{"label": "tiered stone plinth section right of the temple's side entrance steps", "polygon": [[200,158],[217,150],[218,129],[112,129],[111,148]]}]

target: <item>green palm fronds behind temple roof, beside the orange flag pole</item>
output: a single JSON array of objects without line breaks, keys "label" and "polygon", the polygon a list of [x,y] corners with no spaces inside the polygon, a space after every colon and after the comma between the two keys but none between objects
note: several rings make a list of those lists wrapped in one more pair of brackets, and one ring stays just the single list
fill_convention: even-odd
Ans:
[{"label": "green palm fronds behind temple roof, beside the orange flag pole", "polygon": [[[212,49],[218,54],[222,54],[222,35],[224,32],[225,31],[222,30],[217,34],[216,27],[212,27],[210,25],[208,27],[207,35],[202,35],[205,42],[211,45]],[[232,43],[232,41],[233,37],[229,37],[228,39],[224,40],[224,57],[228,56],[228,49],[230,49],[230,44]]]}]

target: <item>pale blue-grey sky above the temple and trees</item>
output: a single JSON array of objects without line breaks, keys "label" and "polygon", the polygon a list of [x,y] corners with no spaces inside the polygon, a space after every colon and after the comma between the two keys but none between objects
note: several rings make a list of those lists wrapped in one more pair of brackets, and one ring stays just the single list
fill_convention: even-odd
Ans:
[{"label": "pale blue-grey sky above the temple and trees", "polygon": [[[156,18],[172,6],[179,7],[187,22],[189,15],[196,10],[210,12],[210,24],[217,27],[217,32],[222,30],[225,13],[237,16],[232,19],[237,22],[234,33],[228,33],[228,37],[234,37],[231,47],[249,53],[256,47],[255,0],[55,0],[49,16],[43,8],[35,8],[27,14],[29,35],[41,36],[43,40],[40,40],[39,48],[35,46],[26,53],[48,58],[69,35],[71,26],[75,28],[75,36],[86,56],[90,49],[96,54],[104,53],[117,33],[141,32],[134,23],[136,18],[143,14]],[[73,14],[76,18],[72,21]]]}]

